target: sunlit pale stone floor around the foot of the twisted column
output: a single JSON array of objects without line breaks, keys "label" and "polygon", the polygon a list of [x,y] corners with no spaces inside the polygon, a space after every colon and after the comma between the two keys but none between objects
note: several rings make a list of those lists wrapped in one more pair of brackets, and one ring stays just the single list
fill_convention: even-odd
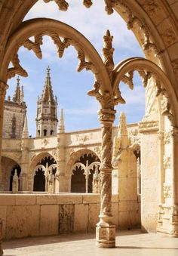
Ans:
[{"label": "sunlit pale stone floor around the foot of the twisted column", "polygon": [[3,242],[4,256],[177,256],[178,238],[140,230],[120,231],[116,248],[95,246],[94,234],[32,237]]}]

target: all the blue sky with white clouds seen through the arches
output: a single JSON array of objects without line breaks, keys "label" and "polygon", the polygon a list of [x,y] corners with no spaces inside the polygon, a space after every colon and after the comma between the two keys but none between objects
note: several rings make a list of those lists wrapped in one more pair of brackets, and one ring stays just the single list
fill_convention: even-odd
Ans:
[{"label": "all the blue sky with white clouds seen through the arches", "polygon": [[[75,27],[79,32],[94,45],[101,54],[103,48],[103,35],[109,29],[114,36],[113,48],[115,64],[127,57],[143,56],[143,52],[138,45],[133,33],[127,30],[126,23],[121,17],[114,13],[107,15],[104,11],[103,0],[97,0],[90,9],[84,8],[82,1],[70,0],[69,10],[59,11],[55,2],[45,4],[39,0],[37,4],[26,15],[24,20],[34,17],[50,17],[63,21]],[[74,48],[66,49],[62,59],[57,57],[57,49],[48,36],[44,37],[41,46],[43,58],[38,60],[32,51],[20,48],[20,64],[29,73],[29,77],[20,78],[20,84],[24,86],[25,101],[28,106],[27,116],[29,134],[35,136],[35,116],[36,100],[41,95],[46,76],[46,68],[51,67],[51,81],[54,95],[58,98],[58,117],[60,109],[63,108],[66,131],[77,131],[87,128],[98,128],[100,122],[97,118],[99,103],[94,97],[87,96],[87,91],[91,90],[94,83],[92,72],[76,72],[78,65],[77,54]],[[127,85],[121,85],[122,97],[126,100],[126,105],[116,106],[117,115],[115,125],[118,124],[118,116],[124,111],[127,122],[138,122],[144,114],[144,88],[141,80],[136,76],[136,85],[133,91]],[[14,94],[17,77],[8,80],[7,96]]]}]

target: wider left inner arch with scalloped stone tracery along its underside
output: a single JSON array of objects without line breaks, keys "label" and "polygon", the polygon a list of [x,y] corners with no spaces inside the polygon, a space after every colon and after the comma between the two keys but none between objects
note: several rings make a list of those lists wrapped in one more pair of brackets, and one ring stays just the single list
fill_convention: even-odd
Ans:
[{"label": "wider left inner arch with scalloped stone tracery along its underside", "polygon": [[[12,55],[15,54],[17,57],[17,51],[21,45],[26,44],[26,40],[32,36],[38,36],[38,47],[41,42],[39,39],[42,35],[49,35],[54,40],[54,43],[58,47],[58,54],[60,57],[63,56],[63,51],[65,48],[72,45],[78,51],[78,72],[82,69],[91,70],[94,72],[95,79],[100,81],[100,90],[109,91],[112,94],[112,88],[109,82],[109,75],[106,71],[103,60],[97,53],[93,45],[76,29],[72,26],[66,25],[57,20],[38,18],[33,20],[26,20],[21,24],[21,26],[11,35],[8,40],[8,44],[5,49],[5,57],[2,63],[2,69],[0,70],[0,77],[2,81],[6,81],[8,77],[15,76],[15,74],[20,74],[21,76],[28,76],[27,72],[19,66],[19,60],[14,60],[17,66],[11,69],[11,75],[8,75],[8,65],[11,62]],[[64,38],[63,42],[58,42],[59,37]],[[57,39],[58,37],[58,39]],[[32,45],[31,45],[32,46]],[[28,48],[28,46],[26,46]],[[35,46],[34,46],[35,47]],[[41,51],[38,48],[38,52],[31,47],[37,57],[41,59]],[[85,60],[87,58],[88,61]],[[7,70],[7,73],[2,72],[2,70]]]}]

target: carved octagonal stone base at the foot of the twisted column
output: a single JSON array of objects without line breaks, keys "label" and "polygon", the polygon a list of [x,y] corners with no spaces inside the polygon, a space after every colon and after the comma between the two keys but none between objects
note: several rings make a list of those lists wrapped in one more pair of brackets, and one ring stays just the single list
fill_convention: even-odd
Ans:
[{"label": "carved octagonal stone base at the foot of the twisted column", "polygon": [[115,248],[115,224],[113,217],[99,216],[100,222],[97,224],[96,245],[99,248]]}]

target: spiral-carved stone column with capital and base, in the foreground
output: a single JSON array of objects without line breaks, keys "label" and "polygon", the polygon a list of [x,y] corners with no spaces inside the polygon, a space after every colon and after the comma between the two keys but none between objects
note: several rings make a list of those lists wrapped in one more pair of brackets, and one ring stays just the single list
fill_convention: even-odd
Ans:
[{"label": "spiral-carved stone column with capital and base, in the foreground", "polygon": [[96,242],[100,248],[115,247],[115,224],[112,217],[112,123],[114,109],[100,109],[102,150],[100,166],[100,221],[97,224]]}]

